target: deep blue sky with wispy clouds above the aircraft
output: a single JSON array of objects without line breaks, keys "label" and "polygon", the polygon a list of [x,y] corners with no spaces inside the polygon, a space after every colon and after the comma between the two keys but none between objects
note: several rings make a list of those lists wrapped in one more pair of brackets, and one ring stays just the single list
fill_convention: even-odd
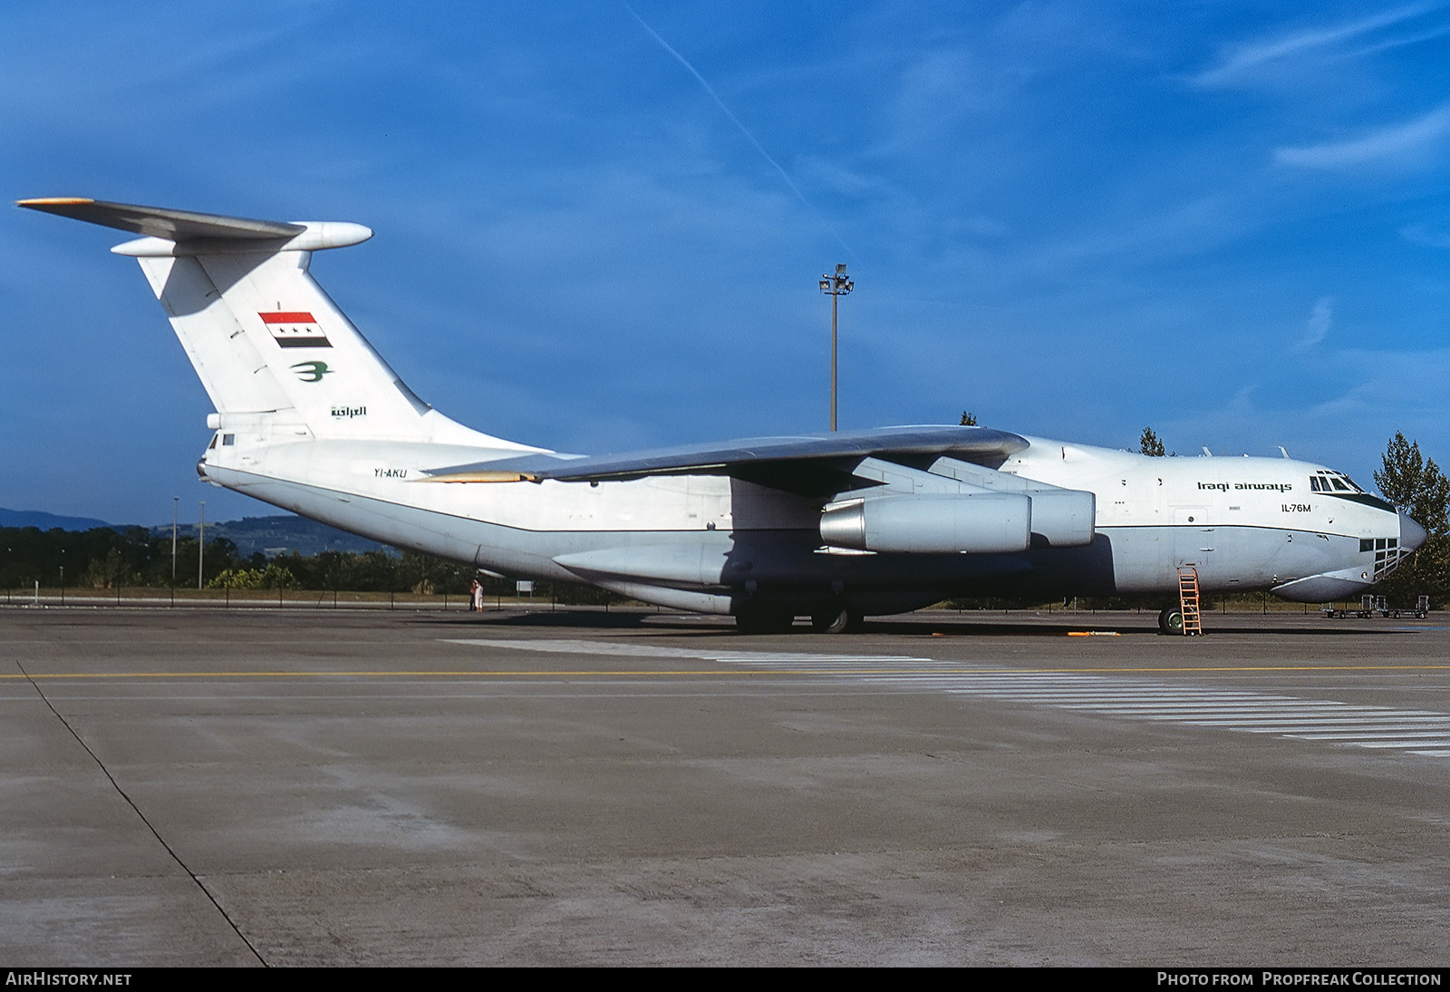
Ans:
[{"label": "deep blue sky with wispy clouds above the aircraft", "polygon": [[[0,189],[377,236],[420,396],[606,452],[954,423],[1450,460],[1450,4],[6,4]],[[268,512],[125,236],[12,209],[0,506]]]}]

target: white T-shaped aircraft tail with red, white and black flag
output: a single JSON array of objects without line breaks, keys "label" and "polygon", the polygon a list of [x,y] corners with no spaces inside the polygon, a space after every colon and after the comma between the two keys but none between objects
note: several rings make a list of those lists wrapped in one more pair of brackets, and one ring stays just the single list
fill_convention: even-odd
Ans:
[{"label": "white T-shaped aircraft tail with red, white and black flag", "polygon": [[[357,223],[251,220],[80,197],[19,206],[142,235],[141,263],[218,418],[318,438],[525,448],[434,410],[307,273],[312,252],[367,241]],[[531,448],[526,448],[531,450]]]}]

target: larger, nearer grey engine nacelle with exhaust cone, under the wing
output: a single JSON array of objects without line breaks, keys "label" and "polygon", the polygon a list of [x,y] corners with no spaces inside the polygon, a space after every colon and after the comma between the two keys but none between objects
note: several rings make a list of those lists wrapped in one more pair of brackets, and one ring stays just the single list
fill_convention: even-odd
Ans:
[{"label": "larger, nearer grey engine nacelle with exhaust cone, under the wing", "polygon": [[1032,540],[1024,493],[882,496],[832,506],[821,540],[838,548],[899,554],[1011,554]]}]

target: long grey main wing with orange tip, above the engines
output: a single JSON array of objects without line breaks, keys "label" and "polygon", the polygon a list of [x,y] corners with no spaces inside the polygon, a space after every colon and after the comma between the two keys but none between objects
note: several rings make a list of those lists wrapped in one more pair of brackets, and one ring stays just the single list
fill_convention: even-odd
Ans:
[{"label": "long grey main wing with orange tip, above the engines", "polygon": [[531,454],[470,466],[432,468],[429,481],[605,481],[647,476],[734,476],[789,490],[816,489],[812,470],[850,474],[832,463],[860,458],[915,460],[950,455],[998,461],[1028,447],[1027,438],[976,426],[900,426],[782,438],[745,438],[722,444],[660,448],[622,455],[571,458]]}]

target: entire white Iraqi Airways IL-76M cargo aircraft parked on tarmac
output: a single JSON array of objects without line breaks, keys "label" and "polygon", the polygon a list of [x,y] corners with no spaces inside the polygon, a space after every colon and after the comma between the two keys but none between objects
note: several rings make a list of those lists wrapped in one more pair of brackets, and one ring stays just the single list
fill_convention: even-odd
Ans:
[{"label": "entire white Iraqi Airways IL-76M cargo aircraft parked on tarmac", "polygon": [[742,631],[841,631],[948,596],[1204,590],[1344,599],[1425,531],[1338,471],[1148,458],[977,426],[566,455],[465,428],[307,274],[354,223],[88,199],[20,206],[129,231],[216,413],[202,479],[492,574],[586,582]]}]

